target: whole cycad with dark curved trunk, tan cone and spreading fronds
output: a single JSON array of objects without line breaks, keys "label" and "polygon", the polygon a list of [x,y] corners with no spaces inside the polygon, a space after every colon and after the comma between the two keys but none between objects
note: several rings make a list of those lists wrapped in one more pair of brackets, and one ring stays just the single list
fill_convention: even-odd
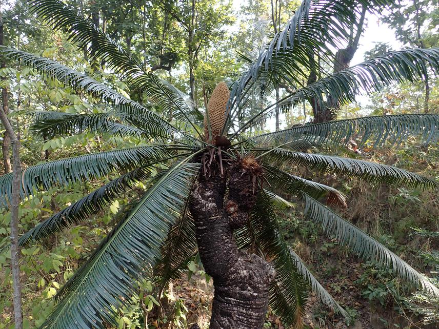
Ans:
[{"label": "whole cycad with dark curved trunk, tan cone and spreading fronds", "polygon": [[[352,138],[359,145],[368,142],[379,147],[416,136],[427,146],[438,140],[439,115],[363,117],[252,133],[276,106],[287,111],[310,99],[324,102],[329,96],[342,104],[354,100],[359,92],[371,93],[392,81],[436,74],[439,49],[410,49],[378,56],[335,74],[323,71],[315,83],[302,85],[310,70],[310,56],[332,63],[332,50],[348,37],[358,4],[380,8],[386,3],[305,0],[257,58],[242,56],[249,62],[248,70],[229,86],[217,86],[203,117],[181,92],[63,3],[31,0],[39,17],[66,31],[92,59],[106,63],[117,78],[147,99],[141,104],[52,60],[1,48],[4,56],[92,95],[112,109],[93,114],[29,113],[35,116],[33,128],[38,134],[47,139],[92,131],[134,136],[147,143],[25,169],[23,197],[110,173],[120,175],[39,223],[19,239],[21,245],[99,213],[138,181],[147,187],[116,215],[112,231],[59,290],[53,313],[42,328],[104,328],[106,322],[114,323],[117,309],[135,294],[138,280],[152,276],[164,285],[182,274],[196,252],[215,287],[211,329],[262,328],[268,305],[284,323],[301,327],[309,290],[346,315],[278,229],[275,208],[289,205],[292,198],[302,202],[306,216],[326,234],[356,254],[376,259],[407,282],[439,295],[427,277],[320,201],[326,197],[334,209],[346,205],[341,192],[288,170],[303,166],[370,182],[437,189],[437,181],[396,167],[311,151],[343,147]],[[263,100],[270,99],[267,95],[280,83],[292,92],[277,104],[264,105]],[[154,107],[163,117],[152,110]],[[166,169],[155,173],[157,164],[166,165],[161,166]],[[11,198],[11,180],[11,174],[0,177],[4,207]]]}]

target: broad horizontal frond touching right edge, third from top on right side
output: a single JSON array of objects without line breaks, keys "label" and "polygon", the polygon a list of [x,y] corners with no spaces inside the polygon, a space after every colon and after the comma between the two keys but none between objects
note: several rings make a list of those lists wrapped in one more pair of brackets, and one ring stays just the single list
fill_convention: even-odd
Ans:
[{"label": "broad horizontal frond touching right edge, third from top on right side", "polygon": [[310,141],[314,145],[345,145],[349,138],[361,138],[373,146],[385,141],[400,143],[408,136],[421,138],[424,144],[439,140],[439,114],[395,114],[344,119],[321,124],[304,125],[278,132],[261,134],[249,139],[256,145],[280,145],[297,140]]}]

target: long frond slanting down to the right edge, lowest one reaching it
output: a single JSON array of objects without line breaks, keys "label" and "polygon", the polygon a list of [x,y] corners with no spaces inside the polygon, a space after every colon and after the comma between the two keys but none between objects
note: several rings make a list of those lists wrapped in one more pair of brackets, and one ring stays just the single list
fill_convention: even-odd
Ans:
[{"label": "long frond slanting down to the right edge, lowest one reaching it", "polygon": [[427,277],[418,273],[383,244],[338,216],[308,194],[303,193],[303,198],[306,204],[305,214],[311,220],[320,224],[326,234],[334,235],[340,243],[348,245],[357,255],[363,258],[375,258],[384,266],[391,268],[402,279],[422,287],[430,294],[439,296],[439,289]]}]

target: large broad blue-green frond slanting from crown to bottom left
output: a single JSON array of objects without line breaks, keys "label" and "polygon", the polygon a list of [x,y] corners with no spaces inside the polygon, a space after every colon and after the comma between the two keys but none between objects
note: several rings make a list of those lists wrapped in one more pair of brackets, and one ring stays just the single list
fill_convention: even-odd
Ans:
[{"label": "large broad blue-green frond slanting from crown to bottom left", "polygon": [[58,292],[60,300],[41,328],[104,328],[113,323],[124,300],[136,291],[149,265],[159,256],[175,212],[189,194],[198,164],[190,155],[156,175],[148,191],[118,216],[116,227],[88,261]]}]

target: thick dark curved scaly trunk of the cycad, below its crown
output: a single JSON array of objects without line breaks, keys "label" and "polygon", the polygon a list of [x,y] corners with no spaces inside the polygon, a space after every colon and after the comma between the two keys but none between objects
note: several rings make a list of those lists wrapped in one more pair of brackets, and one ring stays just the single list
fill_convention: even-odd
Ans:
[{"label": "thick dark curved scaly trunk of the cycad, below its crown", "polygon": [[259,329],[275,273],[264,259],[237,248],[232,230],[248,222],[257,189],[254,177],[241,167],[233,167],[229,174],[226,205],[226,179],[218,173],[207,179],[202,175],[191,192],[198,251],[215,288],[209,328]]}]

